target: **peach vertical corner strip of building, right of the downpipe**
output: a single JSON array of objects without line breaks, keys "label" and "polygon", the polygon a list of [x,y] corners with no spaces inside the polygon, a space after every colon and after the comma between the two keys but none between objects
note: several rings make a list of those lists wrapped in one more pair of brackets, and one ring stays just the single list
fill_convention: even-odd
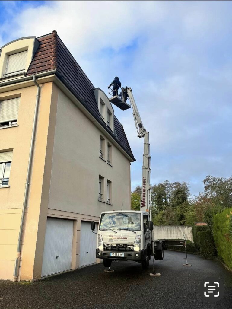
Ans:
[{"label": "peach vertical corner strip of building, right of the downpipe", "polygon": [[[41,277],[49,185],[56,122],[58,89],[53,83],[41,86],[36,142],[28,198],[20,280]],[[18,279],[19,279],[18,278]]]}]

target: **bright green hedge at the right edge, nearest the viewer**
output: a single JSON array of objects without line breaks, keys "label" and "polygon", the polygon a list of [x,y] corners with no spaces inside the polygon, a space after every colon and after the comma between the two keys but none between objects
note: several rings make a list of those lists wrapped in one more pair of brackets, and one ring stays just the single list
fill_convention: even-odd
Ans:
[{"label": "bright green hedge at the right edge, nearest the viewer", "polygon": [[213,238],[218,256],[232,269],[232,208],[213,217]]}]

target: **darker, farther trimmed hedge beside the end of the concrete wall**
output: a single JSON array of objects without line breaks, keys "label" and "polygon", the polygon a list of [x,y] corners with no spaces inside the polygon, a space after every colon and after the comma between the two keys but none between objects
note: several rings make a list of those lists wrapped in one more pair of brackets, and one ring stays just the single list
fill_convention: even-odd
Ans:
[{"label": "darker, farther trimmed hedge beside the end of the concrete wall", "polygon": [[192,227],[193,241],[200,255],[212,258],[215,255],[215,246],[212,231],[207,225],[196,225]]}]

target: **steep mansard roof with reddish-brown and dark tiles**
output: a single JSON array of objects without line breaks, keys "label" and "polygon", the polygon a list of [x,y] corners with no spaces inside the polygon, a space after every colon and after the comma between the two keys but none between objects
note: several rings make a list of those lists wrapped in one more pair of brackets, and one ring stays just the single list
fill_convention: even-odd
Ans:
[{"label": "steep mansard roof with reddish-brown and dark tiles", "polygon": [[37,74],[56,69],[57,77],[81,101],[86,109],[112,135],[118,144],[135,160],[126,138],[123,126],[114,116],[114,133],[101,120],[93,90],[95,87],[82,71],[74,57],[66,48],[56,31],[39,37],[40,45],[32,59],[26,75]]}]

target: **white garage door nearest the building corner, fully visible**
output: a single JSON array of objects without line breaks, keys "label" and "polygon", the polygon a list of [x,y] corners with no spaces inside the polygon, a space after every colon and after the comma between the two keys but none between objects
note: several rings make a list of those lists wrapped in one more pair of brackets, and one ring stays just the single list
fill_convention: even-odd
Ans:
[{"label": "white garage door nearest the building corner, fully visible", "polygon": [[47,219],[41,276],[71,269],[73,221]]}]

